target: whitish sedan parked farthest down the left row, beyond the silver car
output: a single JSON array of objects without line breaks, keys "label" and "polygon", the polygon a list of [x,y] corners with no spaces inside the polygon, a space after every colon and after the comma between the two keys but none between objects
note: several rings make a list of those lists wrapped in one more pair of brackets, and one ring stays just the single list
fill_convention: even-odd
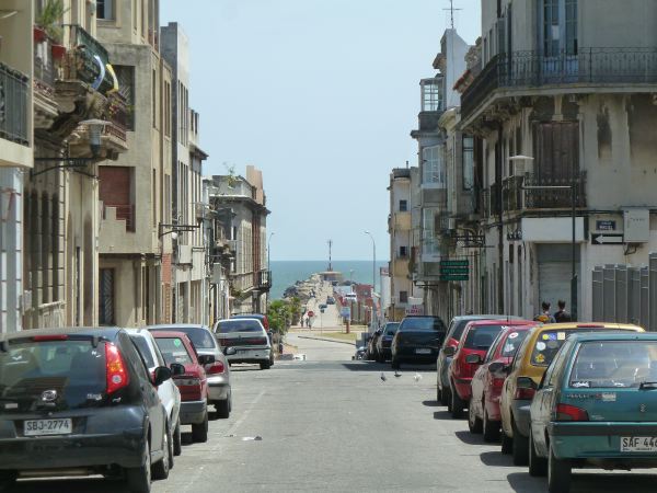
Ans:
[{"label": "whitish sedan parked farthest down the left row, beyond the silver car", "polygon": [[260,320],[219,320],[215,324],[215,335],[230,365],[256,363],[261,369],[272,367],[272,343]]}]

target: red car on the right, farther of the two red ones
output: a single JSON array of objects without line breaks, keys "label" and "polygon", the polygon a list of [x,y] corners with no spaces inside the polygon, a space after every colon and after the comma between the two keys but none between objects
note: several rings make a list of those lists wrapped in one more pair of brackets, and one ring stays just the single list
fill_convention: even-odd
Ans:
[{"label": "red car on the right, farther of the two red ones", "polygon": [[[474,355],[482,359],[488,348],[506,326],[534,324],[529,320],[481,320],[469,322],[463,330],[459,345],[446,347],[445,354],[452,356],[449,365],[448,378],[450,383],[450,411],[452,417],[461,417],[463,410],[470,402],[470,382],[479,364],[472,363]],[[473,355],[473,356],[471,356]],[[471,356],[469,358],[469,356]]]}]

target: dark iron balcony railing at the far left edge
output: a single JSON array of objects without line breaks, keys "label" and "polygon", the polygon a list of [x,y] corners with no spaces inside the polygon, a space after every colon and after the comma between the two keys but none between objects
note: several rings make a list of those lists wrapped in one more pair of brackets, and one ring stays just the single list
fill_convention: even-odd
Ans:
[{"label": "dark iron balcony railing at the far left edge", "polygon": [[0,138],[30,145],[30,78],[0,62]]}]

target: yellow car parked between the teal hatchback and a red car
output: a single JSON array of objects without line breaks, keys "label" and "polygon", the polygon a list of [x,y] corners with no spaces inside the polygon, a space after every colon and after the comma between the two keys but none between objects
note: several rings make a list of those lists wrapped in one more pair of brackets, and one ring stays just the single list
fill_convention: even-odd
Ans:
[{"label": "yellow car parked between the teal hatchback and a red car", "polygon": [[499,414],[502,416],[502,451],[512,454],[516,466],[526,466],[529,460],[529,405],[534,389],[519,387],[522,378],[531,378],[539,385],[554,355],[569,335],[597,331],[643,332],[637,325],[619,323],[549,323],[539,325],[527,335],[510,366],[502,387]]}]

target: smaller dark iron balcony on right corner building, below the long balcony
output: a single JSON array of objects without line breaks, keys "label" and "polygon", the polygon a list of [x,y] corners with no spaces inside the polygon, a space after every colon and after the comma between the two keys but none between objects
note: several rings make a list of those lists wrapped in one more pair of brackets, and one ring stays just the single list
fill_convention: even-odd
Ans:
[{"label": "smaller dark iron balcony on right corner building, below the long balcony", "polygon": [[[530,188],[532,186],[570,186],[569,177],[543,177],[532,173],[510,176],[503,182],[503,206],[505,211],[535,209],[569,209],[573,207],[572,188]],[[577,208],[585,208],[586,172],[577,174]],[[527,187],[527,188],[526,188]]]}]

